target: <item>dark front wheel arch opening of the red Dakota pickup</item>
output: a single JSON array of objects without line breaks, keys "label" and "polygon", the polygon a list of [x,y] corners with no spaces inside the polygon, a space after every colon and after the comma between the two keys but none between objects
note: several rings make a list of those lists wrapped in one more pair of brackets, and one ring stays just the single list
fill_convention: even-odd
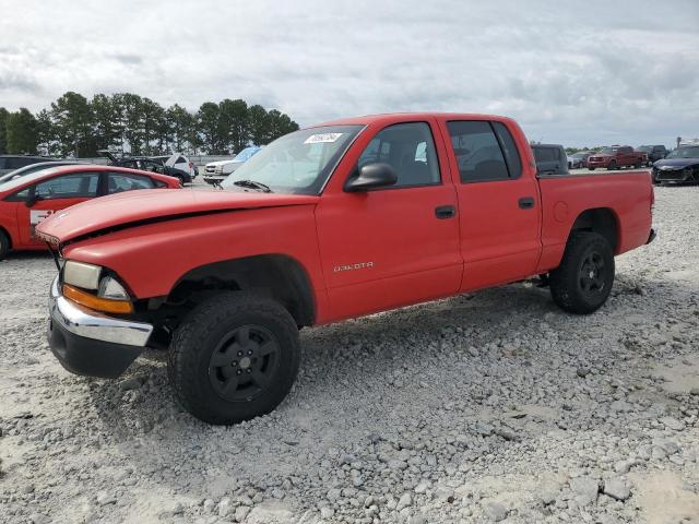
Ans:
[{"label": "dark front wheel arch opening of the red Dakota pickup", "polygon": [[299,326],[312,325],[316,300],[303,264],[286,254],[270,253],[213,262],[182,275],[167,296],[181,302],[216,290],[251,290],[271,296],[292,314]]}]

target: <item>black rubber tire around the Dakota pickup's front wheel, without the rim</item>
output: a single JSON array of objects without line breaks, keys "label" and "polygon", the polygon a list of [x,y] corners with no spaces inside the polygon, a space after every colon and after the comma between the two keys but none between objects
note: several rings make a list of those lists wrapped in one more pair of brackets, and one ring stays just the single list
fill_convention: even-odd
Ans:
[{"label": "black rubber tire around the Dakota pickup's front wheel, without the rim", "polygon": [[[258,326],[275,340],[276,365],[256,396],[229,401],[210,378],[213,355],[221,341],[246,326]],[[288,311],[270,298],[234,291],[216,295],[187,314],[173,336],[167,368],[185,409],[204,422],[232,425],[274,409],[291,390],[299,361],[298,326]]]}]

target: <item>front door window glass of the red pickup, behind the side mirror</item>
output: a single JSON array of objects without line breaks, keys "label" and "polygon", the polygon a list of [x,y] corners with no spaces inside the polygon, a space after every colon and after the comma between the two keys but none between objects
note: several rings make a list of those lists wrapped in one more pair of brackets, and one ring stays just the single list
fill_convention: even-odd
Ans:
[{"label": "front door window glass of the red pickup, behind the side mirror", "polygon": [[392,187],[440,182],[435,141],[427,122],[396,123],[379,131],[359,157],[358,167],[389,164],[398,174]]}]

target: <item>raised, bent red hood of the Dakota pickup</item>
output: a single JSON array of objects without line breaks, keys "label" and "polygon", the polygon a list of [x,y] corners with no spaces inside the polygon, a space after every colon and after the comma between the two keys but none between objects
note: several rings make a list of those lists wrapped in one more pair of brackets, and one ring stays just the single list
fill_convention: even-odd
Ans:
[{"label": "raised, bent red hood of the Dakota pickup", "polygon": [[318,196],[242,191],[163,190],[127,191],[94,199],[59,211],[37,226],[52,243],[111,228],[137,226],[158,219],[175,219],[235,210],[316,204]]}]

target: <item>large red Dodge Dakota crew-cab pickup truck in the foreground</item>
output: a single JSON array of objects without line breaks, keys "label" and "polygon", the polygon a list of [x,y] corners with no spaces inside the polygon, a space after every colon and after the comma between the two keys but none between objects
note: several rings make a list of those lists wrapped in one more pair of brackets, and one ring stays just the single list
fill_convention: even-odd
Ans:
[{"label": "large red Dodge Dakota crew-cab pickup truck in the foreground", "polygon": [[614,257],[654,237],[647,171],[537,177],[519,126],[495,116],[324,123],[223,186],[107,196],[39,225],[64,260],[49,342],[67,369],[115,378],[145,346],[168,349],[186,409],[234,424],[285,397],[303,326],[533,275],[591,313]]}]

